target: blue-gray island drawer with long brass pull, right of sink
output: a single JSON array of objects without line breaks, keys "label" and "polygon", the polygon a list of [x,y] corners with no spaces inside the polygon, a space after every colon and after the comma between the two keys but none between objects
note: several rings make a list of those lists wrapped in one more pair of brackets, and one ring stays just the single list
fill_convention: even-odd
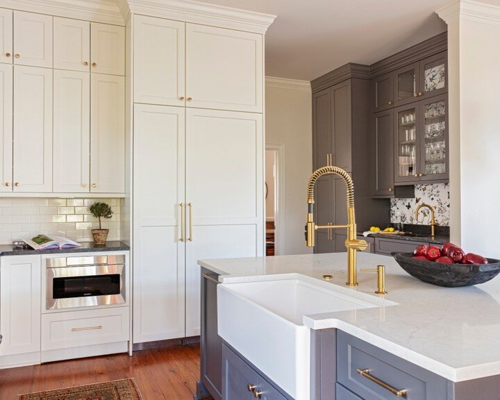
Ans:
[{"label": "blue-gray island drawer with long brass pull, right of sink", "polygon": [[[362,399],[398,399],[381,383],[394,390],[406,390],[406,398],[411,400],[447,399],[447,381],[441,376],[342,331],[337,338],[338,383]],[[358,370],[368,370],[379,382],[362,376]]]}]

